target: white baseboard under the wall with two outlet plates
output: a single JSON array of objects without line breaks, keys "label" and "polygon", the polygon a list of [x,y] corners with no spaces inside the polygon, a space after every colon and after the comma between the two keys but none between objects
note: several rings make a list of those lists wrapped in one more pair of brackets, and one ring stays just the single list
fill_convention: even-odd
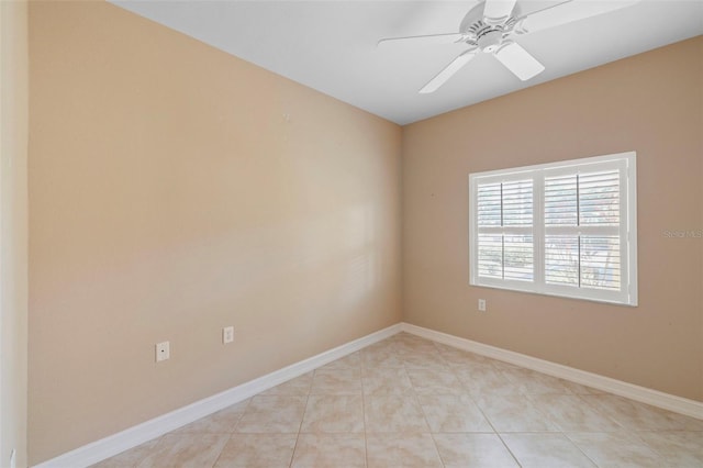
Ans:
[{"label": "white baseboard under the wall with two outlet plates", "polygon": [[321,353],[311,358],[292,364],[258,379],[225,390],[221,393],[197,401],[170,413],[146,421],[114,435],[101,438],[75,450],[59,455],[35,468],[81,468],[102,461],[124,450],[136,447],[155,437],[177,430],[188,423],[223,410],[255,394],[283,383],[290,379],[310,372],[317,367],[330,364],[373,343],[386,339],[401,331],[401,324],[389,326],[370,335],[346,343],[336,348]]}]

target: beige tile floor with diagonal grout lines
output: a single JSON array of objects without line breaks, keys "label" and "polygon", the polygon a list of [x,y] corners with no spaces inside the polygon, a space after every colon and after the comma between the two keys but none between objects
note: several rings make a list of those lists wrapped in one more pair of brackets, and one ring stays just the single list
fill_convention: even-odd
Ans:
[{"label": "beige tile floor with diagonal grout lines", "polygon": [[703,467],[703,421],[401,333],[94,467]]}]

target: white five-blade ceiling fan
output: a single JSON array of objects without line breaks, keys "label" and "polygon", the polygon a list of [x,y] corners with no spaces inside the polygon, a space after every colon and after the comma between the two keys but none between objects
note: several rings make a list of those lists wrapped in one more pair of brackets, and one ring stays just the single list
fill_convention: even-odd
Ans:
[{"label": "white five-blade ceiling fan", "polygon": [[516,0],[481,0],[464,16],[458,33],[389,37],[380,40],[378,46],[409,42],[464,43],[469,47],[422,87],[421,93],[436,91],[479,53],[492,54],[525,81],[539,75],[545,67],[514,42],[514,36],[607,13],[638,1],[640,0],[557,0],[545,9],[523,14]]}]

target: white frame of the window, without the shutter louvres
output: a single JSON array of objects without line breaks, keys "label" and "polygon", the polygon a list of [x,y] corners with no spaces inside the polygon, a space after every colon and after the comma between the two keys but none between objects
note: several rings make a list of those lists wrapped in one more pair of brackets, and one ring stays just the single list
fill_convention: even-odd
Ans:
[{"label": "white frame of the window, without the shutter louvres", "polygon": [[[562,231],[566,233],[588,234],[590,226],[556,227],[545,226],[544,222],[544,181],[546,177],[560,174],[590,172],[617,168],[620,174],[620,226],[607,229],[610,234],[620,236],[621,246],[621,289],[600,290],[545,282],[544,246],[547,233]],[[532,230],[534,271],[532,281],[505,280],[479,277],[478,275],[478,187],[484,183],[507,182],[514,180],[533,180],[533,226],[518,227],[520,233]],[[482,229],[486,232],[486,229]],[[513,227],[502,227],[510,234]],[[598,227],[596,230],[606,230]],[[515,232],[517,234],[517,232]],[[637,305],[637,155],[635,152],[595,156],[558,163],[499,169],[469,175],[469,276],[470,285],[533,292],[546,296],[558,296],[610,302],[623,305]]]}]

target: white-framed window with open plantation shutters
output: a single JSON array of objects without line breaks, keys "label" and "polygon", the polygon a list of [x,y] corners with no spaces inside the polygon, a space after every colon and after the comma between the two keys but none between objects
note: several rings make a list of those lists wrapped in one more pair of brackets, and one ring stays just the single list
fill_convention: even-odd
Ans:
[{"label": "white-framed window with open plantation shutters", "polygon": [[637,305],[636,155],[469,175],[470,283]]}]

